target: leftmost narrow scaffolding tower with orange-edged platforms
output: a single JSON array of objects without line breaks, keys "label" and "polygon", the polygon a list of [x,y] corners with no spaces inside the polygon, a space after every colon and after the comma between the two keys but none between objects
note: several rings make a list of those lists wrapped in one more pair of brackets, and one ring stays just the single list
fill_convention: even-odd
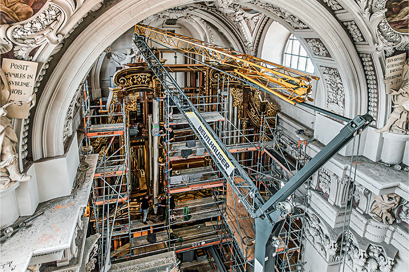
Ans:
[{"label": "leftmost narrow scaffolding tower with orange-edged platforms", "polygon": [[[88,84],[84,83],[83,121],[86,145],[93,138],[104,138],[109,144],[99,154],[92,188],[92,206],[95,229],[99,240],[99,263],[104,266],[110,260],[110,249],[116,241],[131,240],[130,233],[130,185],[128,176],[128,126],[124,104],[113,102],[110,110],[92,106]],[[106,112],[101,114],[101,112]],[[97,120],[99,119],[99,121]],[[98,123],[99,122],[99,123]],[[111,155],[108,155],[108,152]],[[122,255],[130,256],[132,246],[123,249]]]}]

